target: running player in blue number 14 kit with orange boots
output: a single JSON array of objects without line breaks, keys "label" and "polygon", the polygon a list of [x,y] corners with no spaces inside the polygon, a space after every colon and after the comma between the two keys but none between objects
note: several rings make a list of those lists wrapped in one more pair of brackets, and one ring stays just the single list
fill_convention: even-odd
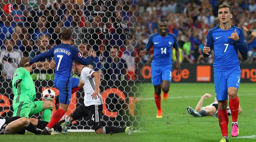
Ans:
[{"label": "running player in blue number 14 kit with orange boots", "polygon": [[[159,33],[149,36],[146,49],[140,51],[140,55],[147,55],[150,48],[154,46],[154,55],[151,63],[151,80],[154,86],[155,104],[157,106],[157,118],[162,118],[161,109],[161,89],[163,91],[163,100],[168,98],[168,92],[171,84],[171,72],[173,70],[171,56],[173,47],[175,48],[176,59],[179,59],[179,47],[177,38],[174,34],[167,32],[167,22],[160,20],[158,23]],[[179,60],[176,61],[176,69],[181,72]]]}]

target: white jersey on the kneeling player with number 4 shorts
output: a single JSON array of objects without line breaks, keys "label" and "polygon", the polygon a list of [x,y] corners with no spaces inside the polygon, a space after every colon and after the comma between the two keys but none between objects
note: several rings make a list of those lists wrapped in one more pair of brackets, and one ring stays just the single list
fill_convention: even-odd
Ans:
[{"label": "white jersey on the kneeling player with number 4 shorts", "polygon": [[83,67],[81,71],[81,80],[85,82],[83,86],[83,91],[85,92],[84,103],[85,106],[91,105],[102,105],[101,94],[98,95],[97,99],[93,99],[92,94],[95,90],[95,78],[92,78],[92,75],[95,71],[89,67]]}]

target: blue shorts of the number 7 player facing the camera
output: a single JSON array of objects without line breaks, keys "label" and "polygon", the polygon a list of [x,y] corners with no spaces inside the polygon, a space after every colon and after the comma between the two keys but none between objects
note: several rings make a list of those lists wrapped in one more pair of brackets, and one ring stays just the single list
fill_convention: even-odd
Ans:
[{"label": "blue shorts of the number 7 player facing the camera", "polygon": [[214,72],[215,94],[218,101],[228,100],[228,88],[240,86],[240,68],[224,71]]}]

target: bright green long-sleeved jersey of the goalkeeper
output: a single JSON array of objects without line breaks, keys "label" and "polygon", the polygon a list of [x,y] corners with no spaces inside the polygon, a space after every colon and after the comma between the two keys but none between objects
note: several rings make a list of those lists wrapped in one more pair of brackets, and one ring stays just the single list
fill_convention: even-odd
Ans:
[{"label": "bright green long-sleeved jersey of the goalkeeper", "polygon": [[[19,79],[22,79],[22,81],[17,88],[15,88],[15,82]],[[13,104],[22,101],[34,101],[36,97],[35,84],[30,73],[24,67],[19,67],[14,71],[12,86],[14,93]]]}]

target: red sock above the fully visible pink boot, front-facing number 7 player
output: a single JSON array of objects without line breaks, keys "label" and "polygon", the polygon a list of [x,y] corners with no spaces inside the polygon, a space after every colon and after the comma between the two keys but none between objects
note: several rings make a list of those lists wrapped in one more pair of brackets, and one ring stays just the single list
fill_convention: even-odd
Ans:
[{"label": "red sock above the fully visible pink boot, front-facing number 7 player", "polygon": [[231,99],[229,98],[229,108],[232,115],[232,122],[237,122],[238,117],[238,109],[239,109],[239,98],[236,96],[236,98]]}]

